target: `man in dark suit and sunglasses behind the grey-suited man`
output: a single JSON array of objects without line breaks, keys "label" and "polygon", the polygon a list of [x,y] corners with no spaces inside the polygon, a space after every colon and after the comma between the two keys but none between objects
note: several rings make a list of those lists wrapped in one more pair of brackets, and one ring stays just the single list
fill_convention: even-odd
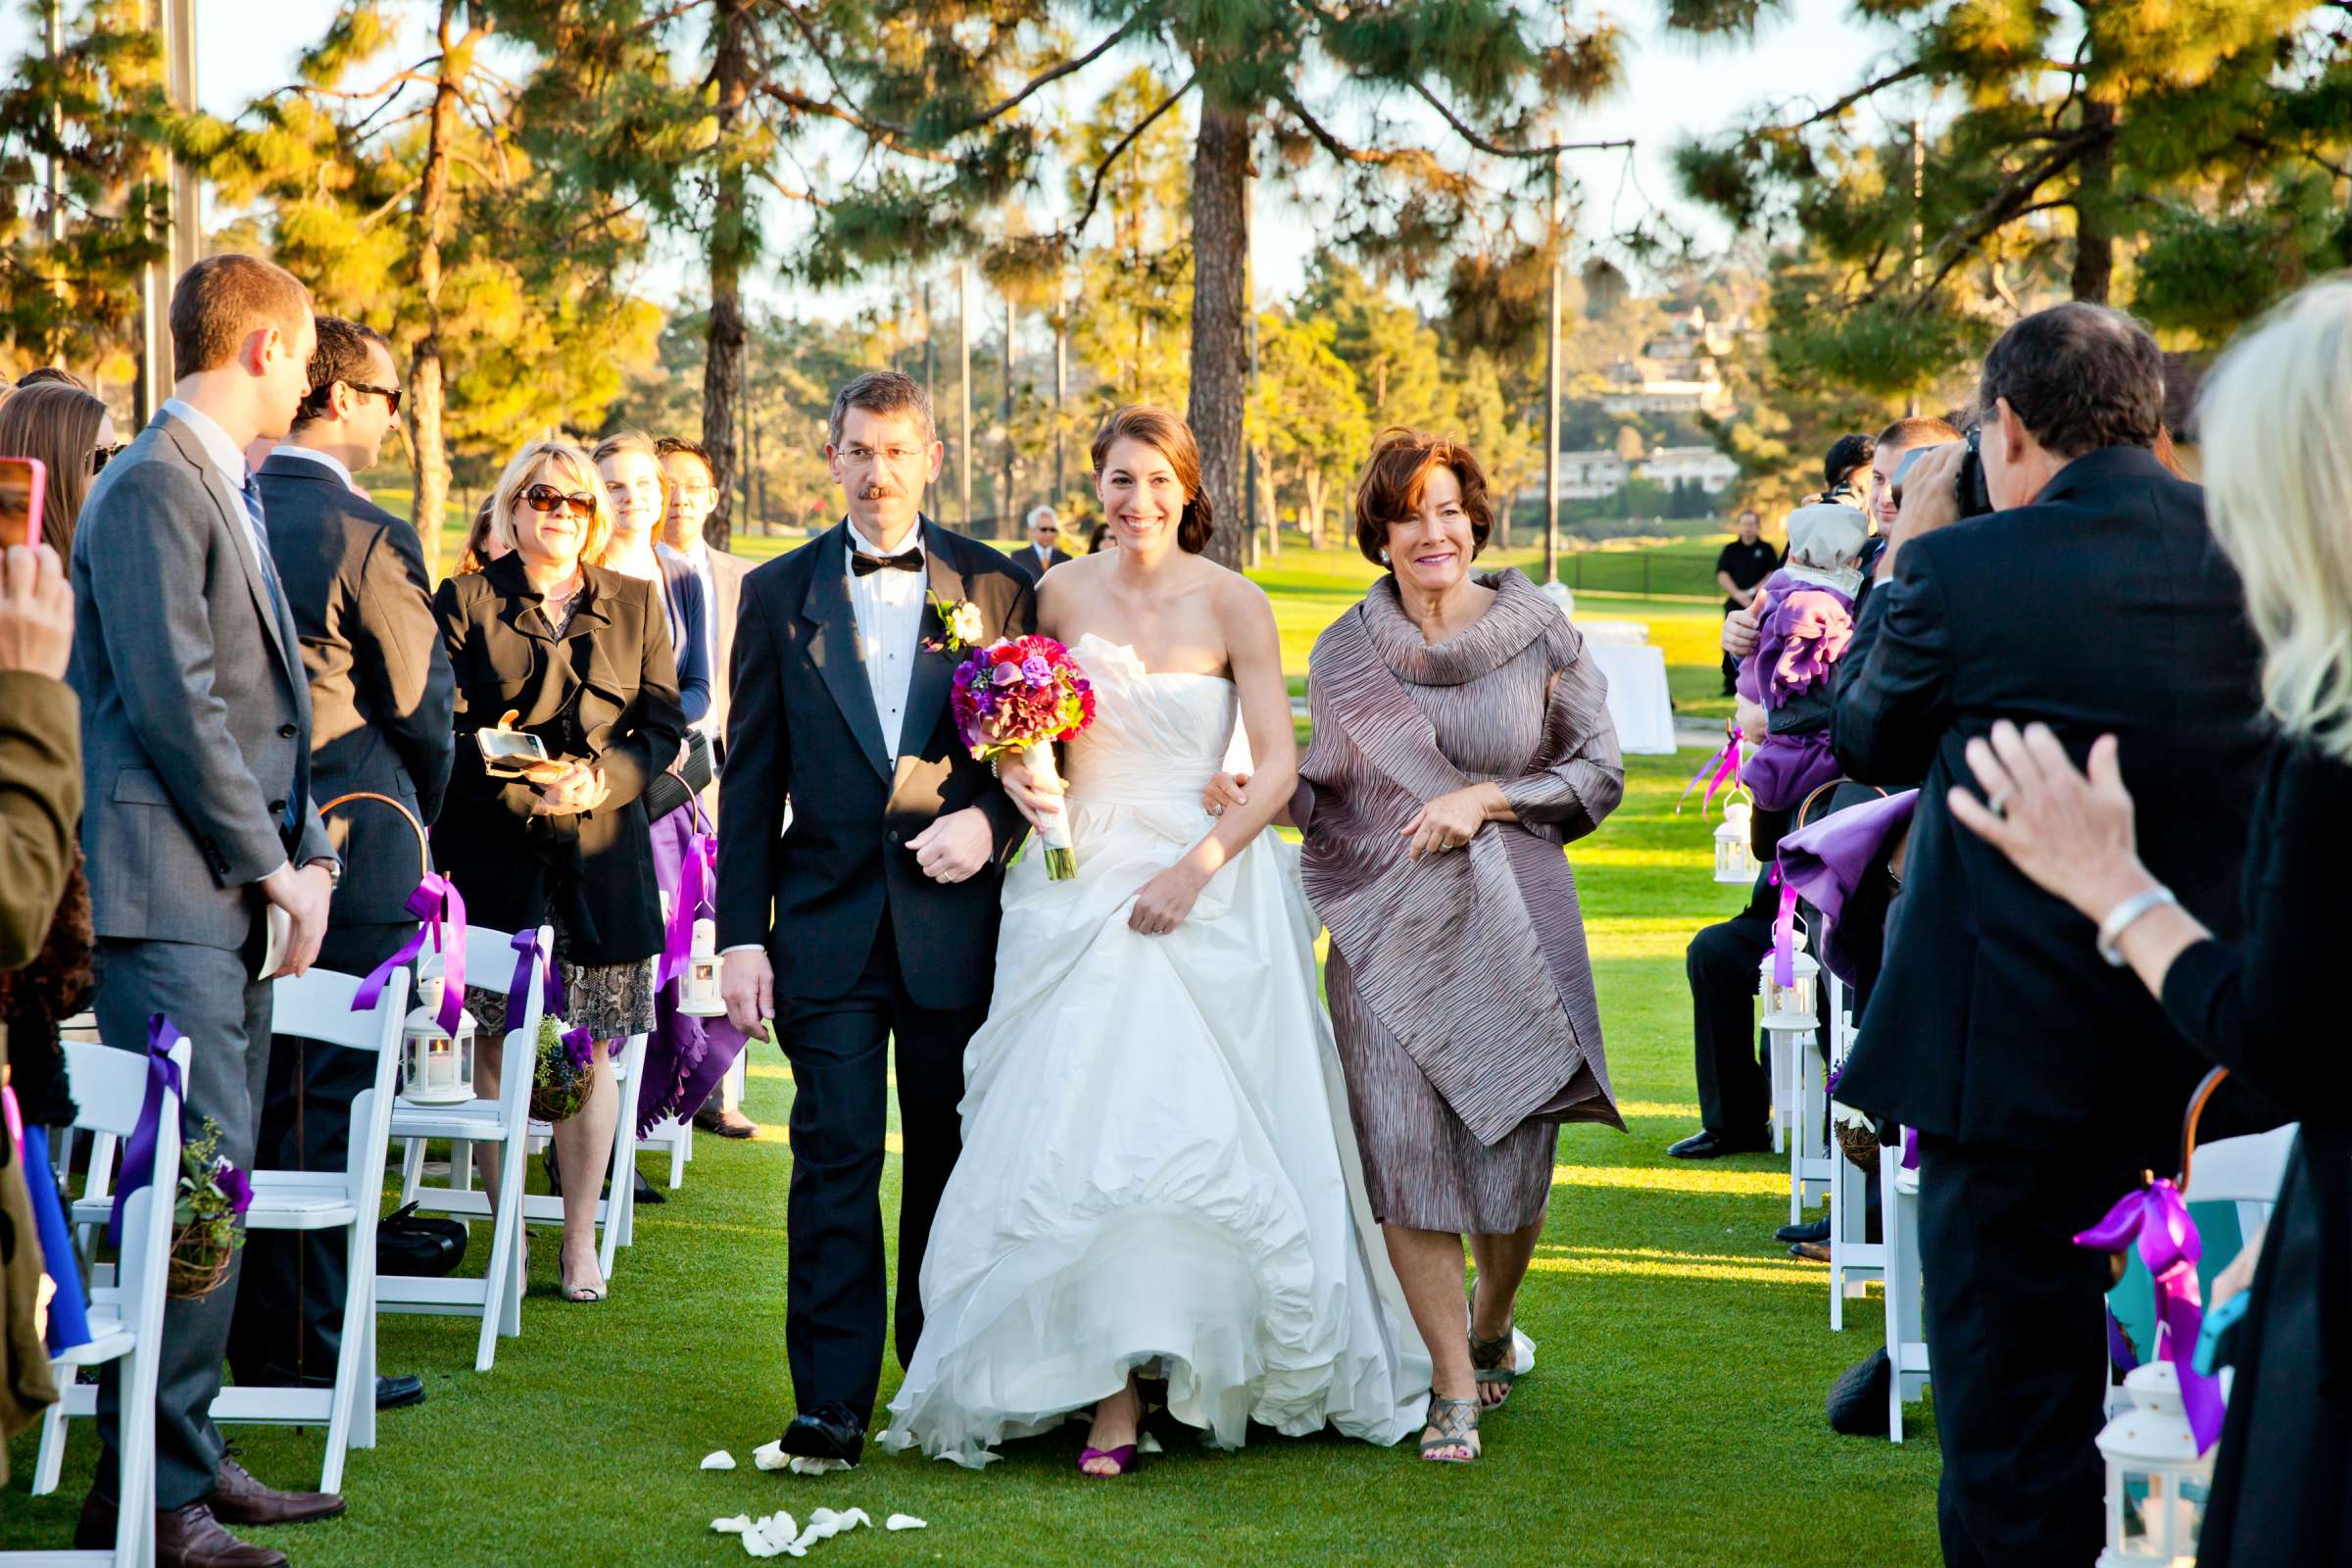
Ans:
[{"label": "man in dark suit and sunglasses behind the grey-suited man", "polygon": [[[400,414],[400,376],[381,334],[318,317],[310,393],[294,430],[261,463],[270,559],[285,583],[310,682],[310,795],[388,795],[419,823],[440,816],[449,783],[449,656],[426,557],[400,517],[369,503],[353,475],[376,465]],[[381,802],[327,816],[343,882],[327,907],[318,961],[365,976],[416,931],[407,898],[421,875],[419,837]],[[263,1171],[341,1171],[350,1103],[374,1060],[280,1034],[256,1161]],[[343,1338],[341,1232],[256,1232],[228,1359],[240,1382],[334,1380]],[[376,1378],[376,1406],[426,1396],[423,1380]]]}]

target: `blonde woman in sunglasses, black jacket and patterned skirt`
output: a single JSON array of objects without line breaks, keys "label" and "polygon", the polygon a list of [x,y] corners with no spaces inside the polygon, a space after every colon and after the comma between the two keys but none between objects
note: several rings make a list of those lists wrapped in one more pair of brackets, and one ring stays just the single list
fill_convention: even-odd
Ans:
[{"label": "blonde woman in sunglasses, black jacket and patterned skirt", "polygon": [[[654,1030],[652,959],[661,952],[640,795],[677,755],[684,717],[654,583],[590,564],[612,536],[612,510],[586,451],[534,442],[515,454],[499,475],[492,527],[513,552],[435,595],[456,670],[456,764],[433,849],[456,867],[475,922],[555,926],[564,1020],[595,1037],[588,1103],[555,1124],[562,1291],[595,1302],[604,1300],[595,1204],[619,1117],[607,1056]],[[562,766],[536,780],[489,776],[475,731],[499,724],[539,736]],[[503,990],[468,987],[466,1006],[482,1039],[503,1041]],[[496,1044],[480,1048],[482,1093],[496,1093],[499,1056]]]}]

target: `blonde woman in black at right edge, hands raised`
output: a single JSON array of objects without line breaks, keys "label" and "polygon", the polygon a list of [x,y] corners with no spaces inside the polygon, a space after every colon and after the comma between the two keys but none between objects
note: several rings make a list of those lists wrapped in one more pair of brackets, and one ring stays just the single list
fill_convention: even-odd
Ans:
[{"label": "blonde woman in black at right edge, hands raised", "polygon": [[[2143,865],[2114,736],[2089,773],[2042,724],[1994,724],[1952,816],[2096,926],[2173,1027],[2303,1117],[2256,1244],[2201,1568],[2338,1561],[2352,1540],[2352,1072],[2336,999],[2352,914],[2352,280],[2314,284],[2241,336],[2199,400],[2206,510],[2246,583],[2281,745],[2246,837],[2246,933],[2223,943]],[[2180,757],[2197,766],[2197,757]],[[2089,964],[2091,952],[2077,961]],[[2246,1258],[2239,1260],[2244,1265]],[[2230,1274],[2237,1274],[2232,1267]],[[2227,1309],[2216,1281],[2216,1316]],[[2185,1347],[2183,1347],[2185,1349]],[[2260,1488],[2258,1493],[2253,1488]]]}]

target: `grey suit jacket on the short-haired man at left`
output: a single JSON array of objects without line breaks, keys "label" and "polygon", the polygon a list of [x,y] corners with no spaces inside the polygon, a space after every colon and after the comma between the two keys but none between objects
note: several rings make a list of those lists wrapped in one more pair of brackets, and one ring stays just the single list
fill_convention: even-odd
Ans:
[{"label": "grey suit jacket on the short-haired man at left", "polygon": [[285,860],[332,860],[310,689],[242,501],[169,414],[89,487],[73,534],[82,851],[99,936],[245,947]]}]

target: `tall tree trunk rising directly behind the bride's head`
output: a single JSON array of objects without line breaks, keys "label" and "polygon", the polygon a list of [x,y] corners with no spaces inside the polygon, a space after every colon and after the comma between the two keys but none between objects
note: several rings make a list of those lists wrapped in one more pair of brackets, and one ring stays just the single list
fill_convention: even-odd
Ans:
[{"label": "tall tree trunk rising directly behind the bride's head", "polygon": [[1192,146],[1192,390],[1209,559],[1242,569],[1242,402],[1249,395],[1249,115],[1214,96]]}]

